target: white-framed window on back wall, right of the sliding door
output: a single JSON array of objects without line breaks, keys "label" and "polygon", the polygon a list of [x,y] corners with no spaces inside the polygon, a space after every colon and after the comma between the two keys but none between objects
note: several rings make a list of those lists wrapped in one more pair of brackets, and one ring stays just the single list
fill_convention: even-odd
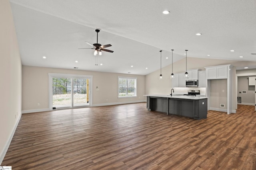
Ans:
[{"label": "white-framed window on back wall, right of the sliding door", "polygon": [[118,98],[136,97],[137,78],[118,77]]}]

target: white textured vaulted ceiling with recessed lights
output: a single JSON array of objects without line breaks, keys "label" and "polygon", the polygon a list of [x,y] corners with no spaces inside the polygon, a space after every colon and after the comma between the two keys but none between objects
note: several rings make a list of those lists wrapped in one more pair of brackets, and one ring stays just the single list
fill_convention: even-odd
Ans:
[{"label": "white textured vaulted ceiling with recessed lights", "polygon": [[[146,75],[160,69],[160,50],[162,67],[171,64],[171,49],[174,62],[185,49],[188,57],[256,61],[255,0],[10,2],[23,65]],[[78,49],[96,43],[96,28],[114,53]]]}]

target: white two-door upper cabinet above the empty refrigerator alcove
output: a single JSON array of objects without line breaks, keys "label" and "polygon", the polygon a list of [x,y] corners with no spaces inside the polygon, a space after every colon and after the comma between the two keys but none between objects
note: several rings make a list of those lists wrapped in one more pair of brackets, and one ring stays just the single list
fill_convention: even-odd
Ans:
[{"label": "white two-door upper cabinet above the empty refrigerator alcove", "polygon": [[206,79],[224,79],[228,78],[228,70],[229,65],[222,65],[222,66],[210,66],[205,67],[206,69]]}]

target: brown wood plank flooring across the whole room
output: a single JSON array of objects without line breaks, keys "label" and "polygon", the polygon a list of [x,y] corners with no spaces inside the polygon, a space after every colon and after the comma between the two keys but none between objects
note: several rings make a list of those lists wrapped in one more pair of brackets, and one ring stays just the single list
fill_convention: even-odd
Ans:
[{"label": "brown wood plank flooring across the whole room", "polygon": [[256,112],[194,120],[146,103],[23,114],[1,164],[14,170],[256,170]]}]

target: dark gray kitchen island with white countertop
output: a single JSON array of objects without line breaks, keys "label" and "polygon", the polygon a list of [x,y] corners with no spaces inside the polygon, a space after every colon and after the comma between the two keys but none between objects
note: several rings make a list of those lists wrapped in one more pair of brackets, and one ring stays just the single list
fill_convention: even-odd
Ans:
[{"label": "dark gray kitchen island with white countertop", "polygon": [[207,118],[207,97],[160,94],[144,96],[147,96],[148,110],[160,111],[168,115],[182,115],[198,120]]}]

